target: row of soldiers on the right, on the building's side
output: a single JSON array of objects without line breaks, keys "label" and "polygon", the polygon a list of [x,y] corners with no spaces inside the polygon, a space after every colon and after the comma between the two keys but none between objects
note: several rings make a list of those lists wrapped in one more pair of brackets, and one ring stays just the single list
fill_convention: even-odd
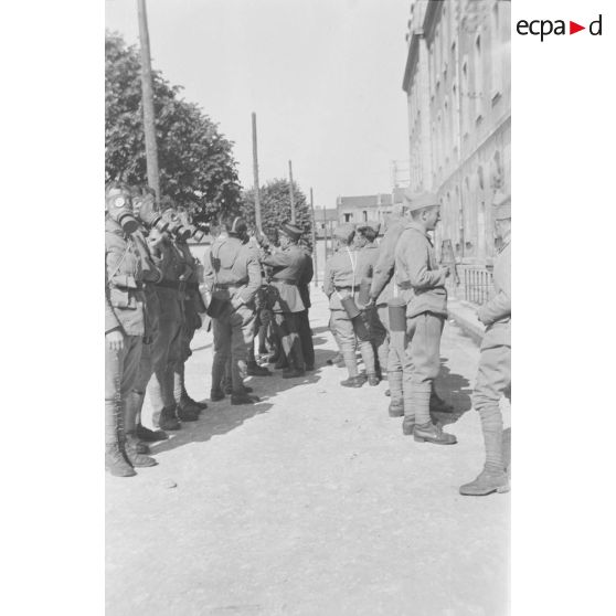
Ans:
[{"label": "row of soldiers on the right, on the building's side", "polygon": [[[478,310],[486,326],[472,396],[481,419],[486,464],[460,487],[465,496],[509,490],[503,453],[501,395],[511,391],[511,199],[497,192],[492,203],[501,249],[493,267],[493,297]],[[431,232],[440,220],[436,194],[406,192],[399,215],[380,226],[342,224],[334,231],[338,251],[326,265],[323,291],[329,297],[330,329],[339,347],[338,363],[348,370],[341,385],[378,385],[385,378],[389,414],[403,417],[402,431],[421,443],[454,445],[438,413],[455,408],[435,391],[440,371],[440,337],[447,318],[446,280],[450,266],[437,263]],[[357,353],[365,372],[359,372]]]}]

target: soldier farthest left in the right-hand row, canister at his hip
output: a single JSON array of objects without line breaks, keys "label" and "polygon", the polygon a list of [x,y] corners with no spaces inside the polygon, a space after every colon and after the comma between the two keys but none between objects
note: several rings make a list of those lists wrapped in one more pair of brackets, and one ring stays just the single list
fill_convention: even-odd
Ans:
[{"label": "soldier farthest left in the right-hand row, canister at his hip", "polygon": [[[359,295],[359,275],[357,267],[358,254],[351,249],[354,229],[351,224],[339,225],[333,232],[340,247],[326,264],[323,291],[329,298],[331,325],[342,348],[342,357],[349,378],[341,381],[344,387],[361,387],[368,378],[370,385],[378,385],[379,379],[374,368],[374,352],[368,330],[357,304]],[[348,306],[348,308],[346,308]],[[357,315],[350,314],[355,308]],[[359,373],[355,349],[359,347],[365,374]]]}]

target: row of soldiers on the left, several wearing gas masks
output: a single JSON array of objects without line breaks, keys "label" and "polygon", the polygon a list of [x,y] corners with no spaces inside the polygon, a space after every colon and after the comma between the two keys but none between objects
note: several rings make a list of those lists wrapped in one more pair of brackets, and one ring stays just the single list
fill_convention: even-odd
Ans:
[{"label": "row of soldiers on the left, several wearing gas masks", "polygon": [[[203,318],[214,337],[212,402],[226,394],[233,405],[258,402],[244,380],[272,372],[256,362],[256,336],[284,379],[315,369],[312,259],[299,245],[301,230],[283,224],[276,248],[248,236],[241,217],[226,217],[200,263],[187,241],[210,231],[169,199],[157,208],[147,187],[105,189],[105,464],[114,476],[156,465],[148,443],[168,438],[208,407],[184,383]],[[146,392],[155,429],[141,423]]]}]

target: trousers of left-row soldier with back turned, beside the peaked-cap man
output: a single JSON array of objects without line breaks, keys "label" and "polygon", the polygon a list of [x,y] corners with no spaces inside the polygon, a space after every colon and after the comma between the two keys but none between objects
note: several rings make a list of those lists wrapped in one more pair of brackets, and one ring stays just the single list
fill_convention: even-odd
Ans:
[{"label": "trousers of left-row soldier with back turned, beside the peaked-cap man", "polygon": [[254,341],[255,310],[246,305],[233,312],[213,319],[214,359],[212,362],[212,389],[220,387],[225,367],[231,360],[233,393],[242,393],[247,372],[248,344]]}]

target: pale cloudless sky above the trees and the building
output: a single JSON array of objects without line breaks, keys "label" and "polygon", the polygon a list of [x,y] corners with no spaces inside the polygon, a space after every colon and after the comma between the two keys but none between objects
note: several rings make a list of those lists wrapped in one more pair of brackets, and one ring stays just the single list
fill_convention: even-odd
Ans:
[{"label": "pale cloudless sky above the trees and the building", "polygon": [[[391,192],[406,161],[402,78],[411,0],[147,0],[152,67],[234,142],[240,180],[288,177],[316,206]],[[136,0],[106,0],[106,28],[138,43]]]}]

